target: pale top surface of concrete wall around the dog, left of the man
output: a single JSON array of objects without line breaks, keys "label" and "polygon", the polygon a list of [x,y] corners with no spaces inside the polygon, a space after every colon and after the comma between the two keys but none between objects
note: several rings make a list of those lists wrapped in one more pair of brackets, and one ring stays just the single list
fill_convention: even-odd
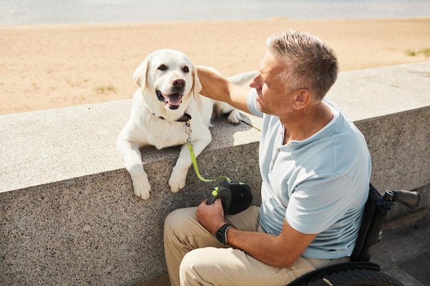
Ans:
[{"label": "pale top surface of concrete wall around the dog, left of the man", "polygon": [[[124,167],[115,150],[131,113],[131,99],[0,116],[0,192],[81,178]],[[260,119],[244,116],[259,126]],[[258,130],[218,119],[207,150],[258,140]],[[243,132],[247,132],[242,136]],[[178,148],[144,150],[144,163],[176,158]],[[165,174],[167,176],[167,174]],[[19,178],[19,179],[17,179]]]}]

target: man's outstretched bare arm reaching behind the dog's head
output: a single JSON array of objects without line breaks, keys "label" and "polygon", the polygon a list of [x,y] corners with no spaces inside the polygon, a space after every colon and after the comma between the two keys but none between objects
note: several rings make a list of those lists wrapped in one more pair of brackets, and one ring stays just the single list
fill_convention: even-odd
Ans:
[{"label": "man's outstretched bare arm reaching behind the dog's head", "polygon": [[227,102],[231,106],[249,113],[247,97],[249,91],[251,91],[250,87],[232,84],[222,76],[204,67],[197,67],[197,75],[202,85],[200,92],[202,95]]}]

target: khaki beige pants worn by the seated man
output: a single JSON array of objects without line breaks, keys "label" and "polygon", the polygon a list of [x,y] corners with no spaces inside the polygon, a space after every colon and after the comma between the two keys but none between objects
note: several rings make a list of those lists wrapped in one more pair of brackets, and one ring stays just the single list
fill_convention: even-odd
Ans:
[{"label": "khaki beige pants worn by the seated man", "polygon": [[[251,206],[225,221],[240,230],[264,232],[260,208]],[[196,208],[173,211],[164,224],[166,263],[173,286],[190,285],[280,285],[326,265],[349,261],[299,257],[291,268],[267,265],[242,250],[220,243],[196,220]]]}]

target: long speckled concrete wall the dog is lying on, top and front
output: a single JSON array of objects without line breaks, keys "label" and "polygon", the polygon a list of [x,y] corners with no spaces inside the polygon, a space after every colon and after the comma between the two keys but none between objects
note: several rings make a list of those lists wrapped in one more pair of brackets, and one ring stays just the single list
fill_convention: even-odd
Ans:
[{"label": "long speckled concrete wall the dog is lying on, top and front", "polygon": [[[430,62],[341,73],[328,98],[365,134],[372,182],[422,191],[429,207]],[[131,100],[0,117],[0,285],[133,285],[166,274],[163,220],[196,206],[215,183],[190,169],[185,189],[167,180],[178,147],[143,150],[150,200],[133,195],[115,150]],[[260,119],[218,119],[199,156],[205,178],[245,180],[259,204]],[[254,127],[251,127],[254,126]],[[396,206],[391,219],[411,212]]]}]

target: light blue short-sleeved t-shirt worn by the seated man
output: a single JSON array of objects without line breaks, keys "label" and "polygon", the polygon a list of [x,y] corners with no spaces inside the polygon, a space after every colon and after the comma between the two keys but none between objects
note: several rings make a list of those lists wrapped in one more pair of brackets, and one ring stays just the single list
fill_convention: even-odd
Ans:
[{"label": "light blue short-sleeved t-shirt worn by the seated man", "polygon": [[354,249],[369,191],[370,153],[363,134],[332,104],[335,116],[317,134],[283,145],[279,117],[263,114],[256,90],[248,108],[263,118],[260,222],[279,235],[284,219],[300,233],[319,233],[302,256],[337,259]]}]

